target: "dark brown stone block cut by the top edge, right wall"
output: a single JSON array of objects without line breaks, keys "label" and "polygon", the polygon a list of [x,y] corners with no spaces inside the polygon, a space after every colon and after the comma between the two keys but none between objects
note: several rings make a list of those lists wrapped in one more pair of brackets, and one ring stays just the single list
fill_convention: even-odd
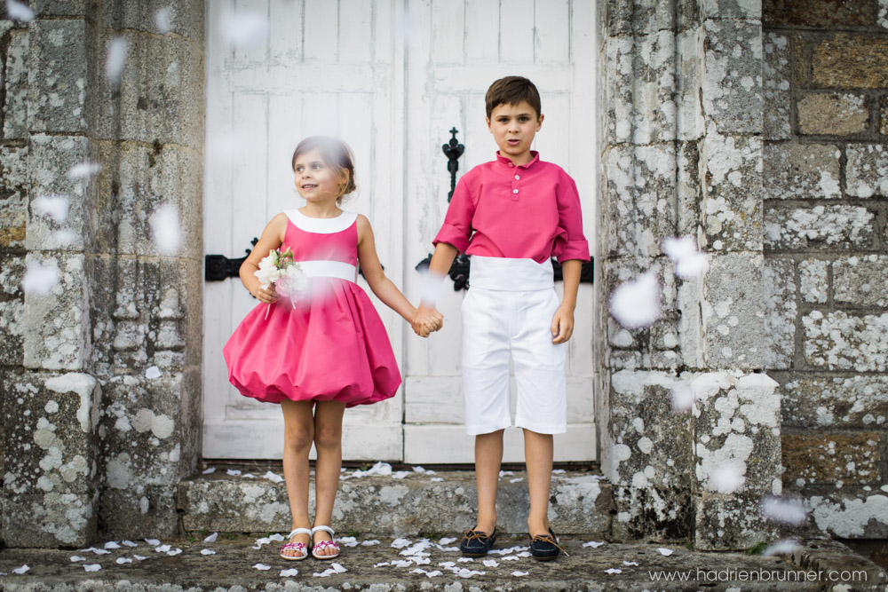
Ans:
[{"label": "dark brown stone block cut by the top edge, right wall", "polygon": [[870,27],[875,17],[868,0],[764,0],[762,12],[774,28]]}]

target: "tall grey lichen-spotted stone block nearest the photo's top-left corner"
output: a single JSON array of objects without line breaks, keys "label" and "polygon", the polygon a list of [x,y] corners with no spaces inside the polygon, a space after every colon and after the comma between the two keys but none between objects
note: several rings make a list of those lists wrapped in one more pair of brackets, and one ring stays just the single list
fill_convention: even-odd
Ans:
[{"label": "tall grey lichen-spotted stone block nearest the photo's top-left corner", "polygon": [[28,130],[84,132],[87,28],[85,20],[35,20],[28,27]]}]

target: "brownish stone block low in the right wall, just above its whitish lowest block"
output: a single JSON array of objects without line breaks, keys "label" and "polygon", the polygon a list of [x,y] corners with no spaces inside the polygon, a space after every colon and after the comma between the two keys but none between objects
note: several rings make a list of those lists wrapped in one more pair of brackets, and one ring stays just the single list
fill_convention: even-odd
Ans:
[{"label": "brownish stone block low in the right wall, just above its whitish lowest block", "polygon": [[881,470],[884,433],[808,432],[783,434],[783,479],[796,486],[875,485]]}]

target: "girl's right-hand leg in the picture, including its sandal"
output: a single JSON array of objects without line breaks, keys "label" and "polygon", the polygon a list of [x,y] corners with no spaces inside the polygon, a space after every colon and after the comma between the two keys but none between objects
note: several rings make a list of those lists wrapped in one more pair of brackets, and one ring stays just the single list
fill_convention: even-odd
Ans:
[{"label": "girl's right-hand leg in the picture, including its sandal", "polygon": [[[314,465],[314,525],[330,526],[333,502],[339,487],[342,469],[342,416],[345,403],[318,401],[314,409],[314,447],[318,460]],[[315,542],[331,541],[329,533],[319,531]],[[321,549],[319,555],[334,555],[335,549]]]}]

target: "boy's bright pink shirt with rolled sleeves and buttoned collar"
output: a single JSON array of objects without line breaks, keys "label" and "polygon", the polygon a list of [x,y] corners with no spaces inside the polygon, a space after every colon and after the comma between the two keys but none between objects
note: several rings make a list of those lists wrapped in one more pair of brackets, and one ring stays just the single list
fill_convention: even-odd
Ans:
[{"label": "boy's bright pink shirt with rolled sleeves and buttoned collar", "polygon": [[532,161],[515,166],[497,152],[496,161],[464,174],[432,242],[482,257],[589,261],[574,179],[531,154]]}]

